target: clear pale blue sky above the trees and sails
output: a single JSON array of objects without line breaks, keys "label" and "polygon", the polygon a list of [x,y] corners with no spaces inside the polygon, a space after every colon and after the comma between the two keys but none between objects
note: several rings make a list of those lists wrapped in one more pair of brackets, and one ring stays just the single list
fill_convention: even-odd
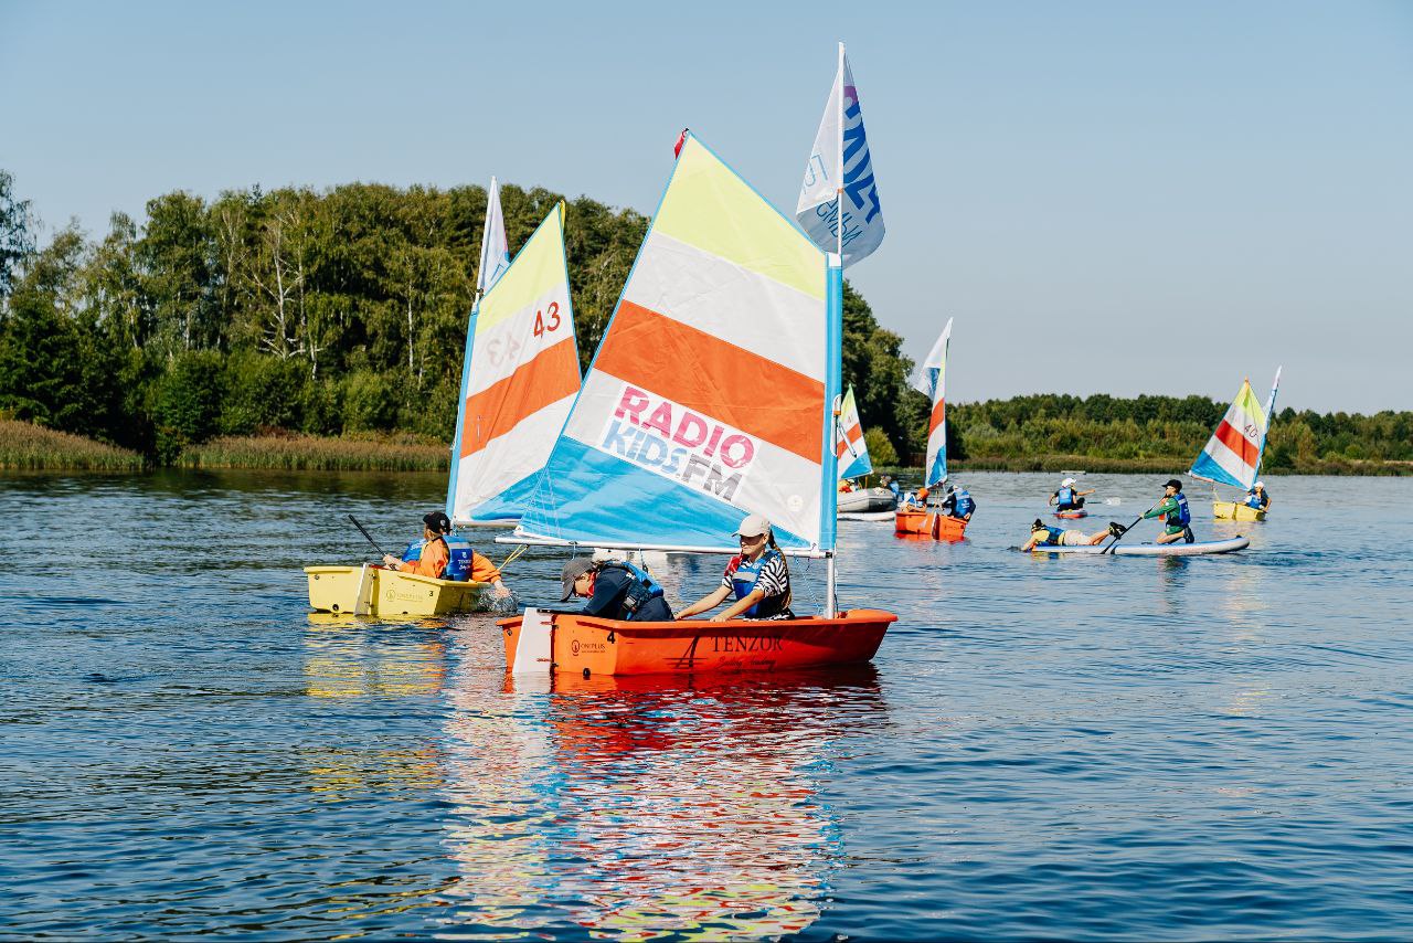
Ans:
[{"label": "clear pale blue sky above the trees and sails", "polygon": [[[848,42],[889,235],[849,269],[948,393],[1413,409],[1413,3],[0,0],[0,167],[52,229],[232,187],[651,212],[691,126],[793,209]],[[572,225],[572,219],[569,221]]]}]

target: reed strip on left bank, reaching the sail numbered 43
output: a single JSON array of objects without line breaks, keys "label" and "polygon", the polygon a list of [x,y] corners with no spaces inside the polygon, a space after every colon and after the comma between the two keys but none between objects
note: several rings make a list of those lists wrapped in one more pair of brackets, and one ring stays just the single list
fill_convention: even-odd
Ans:
[{"label": "reed strip on left bank, reaching the sail numbered 43", "polygon": [[280,471],[448,471],[445,443],[413,435],[222,435],[188,445],[182,468],[256,468]]}]

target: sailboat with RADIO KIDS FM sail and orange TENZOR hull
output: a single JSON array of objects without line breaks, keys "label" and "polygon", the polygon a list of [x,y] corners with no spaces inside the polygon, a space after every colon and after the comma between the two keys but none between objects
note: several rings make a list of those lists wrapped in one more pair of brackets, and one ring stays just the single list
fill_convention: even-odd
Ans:
[{"label": "sailboat with RADIO KIDS FM sail and orange TENZOR hull", "polygon": [[790,621],[503,619],[507,666],[688,674],[866,662],[897,616],[836,609],[844,271],[695,136],[682,147],[540,488],[502,543],[731,556],[766,516],[822,558],[824,612]]}]

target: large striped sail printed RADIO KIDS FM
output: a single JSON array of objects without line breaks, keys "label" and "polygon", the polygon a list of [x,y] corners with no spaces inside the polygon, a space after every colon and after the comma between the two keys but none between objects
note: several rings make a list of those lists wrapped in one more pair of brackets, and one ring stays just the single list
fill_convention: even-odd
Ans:
[{"label": "large striped sail printed RADIO KIDS FM", "polygon": [[832,550],[842,269],[688,134],[520,534]]}]

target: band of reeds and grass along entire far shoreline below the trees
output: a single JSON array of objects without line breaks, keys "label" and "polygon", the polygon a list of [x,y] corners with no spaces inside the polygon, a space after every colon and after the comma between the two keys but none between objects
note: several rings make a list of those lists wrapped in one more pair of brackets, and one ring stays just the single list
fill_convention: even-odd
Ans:
[{"label": "band of reeds and grass along entire far shoreline below the trees", "polygon": [[[1205,440],[1204,440],[1205,441]],[[1195,450],[1194,450],[1195,454]],[[1029,455],[975,455],[948,461],[952,472],[1061,472],[1082,469],[1098,474],[1177,475],[1191,465],[1193,455],[1113,458],[1077,452],[1034,452]],[[177,468],[326,472],[447,472],[451,447],[428,435],[393,433],[386,435],[222,435],[201,445],[188,445]],[[154,468],[138,452],[117,448],[82,435],[57,433],[32,423],[0,418],[0,471],[100,471],[131,472]],[[916,478],[921,465],[880,465],[879,472]],[[1413,475],[1413,461],[1328,458],[1293,459],[1287,467],[1262,469],[1263,475]]]}]

